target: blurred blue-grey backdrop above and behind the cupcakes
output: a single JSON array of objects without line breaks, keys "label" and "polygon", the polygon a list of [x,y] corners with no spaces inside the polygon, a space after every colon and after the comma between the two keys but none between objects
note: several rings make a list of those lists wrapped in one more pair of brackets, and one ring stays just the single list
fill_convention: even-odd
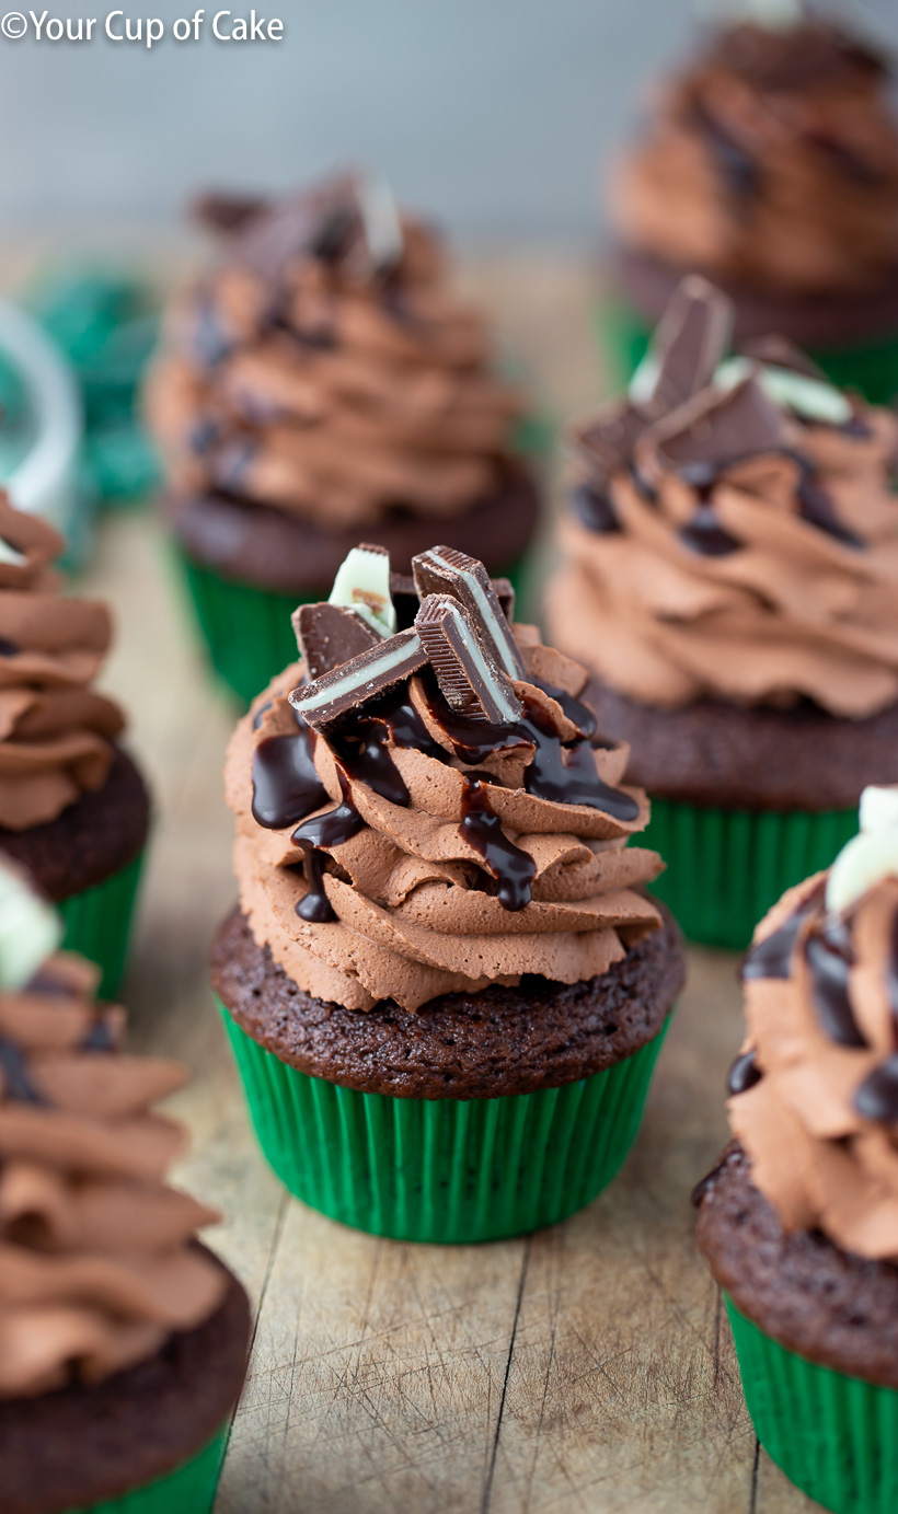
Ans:
[{"label": "blurred blue-grey backdrop above and behind the cupcakes", "polygon": [[[194,9],[136,0],[126,15],[170,29]],[[151,51],[0,38],[0,236],[174,226],[198,188],[279,189],[360,164],[468,242],[583,245],[598,165],[697,14],[692,0],[262,0],[285,39],[238,45],[210,39],[215,9],[200,44]],[[898,39],[898,0],[850,9]]]}]

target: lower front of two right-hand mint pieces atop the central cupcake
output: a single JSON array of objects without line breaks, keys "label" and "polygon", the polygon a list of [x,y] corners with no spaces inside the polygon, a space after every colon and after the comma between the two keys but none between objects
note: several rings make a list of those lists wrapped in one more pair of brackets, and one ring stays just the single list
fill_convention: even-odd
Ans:
[{"label": "lower front of two right-hand mint pieces atop the central cupcake", "polygon": [[448,593],[426,595],[415,627],[453,710],[491,725],[513,725],[521,719],[521,701],[459,600]]}]

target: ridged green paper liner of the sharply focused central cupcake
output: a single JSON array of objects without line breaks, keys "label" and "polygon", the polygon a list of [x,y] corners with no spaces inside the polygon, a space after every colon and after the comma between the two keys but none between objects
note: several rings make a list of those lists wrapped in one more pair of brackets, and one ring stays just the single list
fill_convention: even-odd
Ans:
[{"label": "ridged green paper liner of the sharply focused central cupcake", "polygon": [[560,1089],[397,1099],[288,1067],[217,1004],[259,1145],[291,1193],[373,1235],[445,1245],[524,1235],[589,1204],[633,1145],[666,1031]]}]

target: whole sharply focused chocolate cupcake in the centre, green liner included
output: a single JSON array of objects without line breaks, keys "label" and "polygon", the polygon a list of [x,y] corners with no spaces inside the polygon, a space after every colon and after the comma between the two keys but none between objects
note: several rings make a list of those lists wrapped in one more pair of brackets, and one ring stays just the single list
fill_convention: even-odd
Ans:
[{"label": "whole sharply focused chocolate cupcake in the centre, green liner included", "polygon": [[214,987],[295,1195],[376,1234],[494,1240],[610,1181],[683,957],[585,669],[512,625],[474,559],[413,569],[391,597],[386,554],[353,553],[236,728]]}]

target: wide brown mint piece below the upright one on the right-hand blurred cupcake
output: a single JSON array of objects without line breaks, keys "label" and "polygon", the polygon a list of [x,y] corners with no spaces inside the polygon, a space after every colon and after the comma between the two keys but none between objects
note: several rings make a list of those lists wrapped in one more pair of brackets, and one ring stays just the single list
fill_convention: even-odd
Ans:
[{"label": "wide brown mint piece below the upright one on the right-hand blurred cupcake", "polygon": [[659,421],[647,433],[647,444],[651,441],[674,468],[700,462],[719,469],[744,457],[781,451],[786,430],[775,404],[754,378],[747,378],[727,394],[697,397],[694,406]]}]

